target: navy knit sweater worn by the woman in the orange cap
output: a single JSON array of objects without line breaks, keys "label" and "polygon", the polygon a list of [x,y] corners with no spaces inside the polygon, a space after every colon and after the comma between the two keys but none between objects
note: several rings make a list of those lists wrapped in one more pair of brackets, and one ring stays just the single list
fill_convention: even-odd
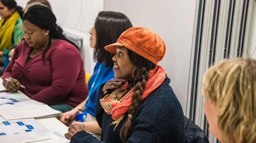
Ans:
[{"label": "navy knit sweater worn by the woman in the orange cap", "polygon": [[[128,143],[185,143],[184,116],[180,102],[169,86],[170,79],[148,95],[133,115],[132,128]],[[101,90],[98,93],[95,117],[102,128],[99,141],[86,131],[76,133],[70,143],[122,143],[120,130],[127,120],[127,114],[116,127],[111,115],[104,112],[99,103],[103,98]]]}]

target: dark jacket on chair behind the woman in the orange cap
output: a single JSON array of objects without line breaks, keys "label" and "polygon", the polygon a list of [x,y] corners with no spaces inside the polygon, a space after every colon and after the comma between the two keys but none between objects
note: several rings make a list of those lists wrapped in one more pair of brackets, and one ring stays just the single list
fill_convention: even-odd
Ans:
[{"label": "dark jacket on chair behind the woman in the orange cap", "polygon": [[187,143],[209,143],[207,135],[193,121],[184,117]]}]

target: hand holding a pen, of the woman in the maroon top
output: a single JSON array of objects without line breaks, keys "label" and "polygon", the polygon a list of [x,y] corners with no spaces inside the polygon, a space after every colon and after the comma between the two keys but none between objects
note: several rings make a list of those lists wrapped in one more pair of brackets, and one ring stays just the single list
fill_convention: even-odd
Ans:
[{"label": "hand holding a pen, of the woman in the maroon top", "polygon": [[20,89],[20,82],[15,79],[15,78],[8,78],[11,81],[4,80],[4,85],[5,88],[10,92],[10,93],[15,93]]}]

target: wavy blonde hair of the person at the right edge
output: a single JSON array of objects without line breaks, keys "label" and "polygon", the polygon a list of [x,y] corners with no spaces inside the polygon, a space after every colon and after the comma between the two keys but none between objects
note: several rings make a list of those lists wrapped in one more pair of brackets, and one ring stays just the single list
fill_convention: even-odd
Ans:
[{"label": "wavy blonde hair of the person at the right edge", "polygon": [[210,67],[203,94],[218,107],[224,143],[256,142],[256,60],[225,59]]}]

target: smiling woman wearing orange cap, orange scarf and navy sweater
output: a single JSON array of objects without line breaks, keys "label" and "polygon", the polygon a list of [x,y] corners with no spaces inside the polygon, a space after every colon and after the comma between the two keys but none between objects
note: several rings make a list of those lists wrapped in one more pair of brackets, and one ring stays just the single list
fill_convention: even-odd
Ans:
[{"label": "smiling woman wearing orange cap, orange scarf and navy sweater", "polygon": [[[148,28],[132,27],[115,44],[105,47],[113,57],[115,78],[98,92],[95,117],[107,143],[183,143],[184,116],[158,66],[164,41]],[[120,86],[120,83],[127,82]],[[71,143],[103,143],[73,124],[65,134]]]}]

